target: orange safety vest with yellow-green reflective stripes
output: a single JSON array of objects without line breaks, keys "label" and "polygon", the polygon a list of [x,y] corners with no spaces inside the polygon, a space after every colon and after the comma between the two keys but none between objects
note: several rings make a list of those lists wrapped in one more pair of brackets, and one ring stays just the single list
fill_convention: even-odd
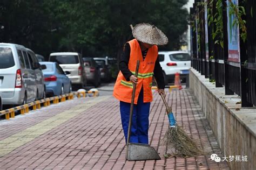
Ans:
[{"label": "orange safety vest with yellow-green reflective stripes", "polygon": [[[152,102],[152,78],[154,71],[154,64],[158,56],[158,48],[156,45],[149,48],[145,60],[143,61],[142,51],[139,46],[137,39],[133,39],[128,42],[131,47],[130,60],[128,63],[129,70],[135,74],[137,60],[140,60],[139,72],[138,72],[138,83],[136,86],[136,93],[134,98],[134,104],[137,104],[140,89],[143,85],[143,102]],[[120,71],[117,76],[117,81],[114,84],[113,96],[119,101],[131,103],[132,98],[132,87],[131,81],[126,81],[124,75]]]}]

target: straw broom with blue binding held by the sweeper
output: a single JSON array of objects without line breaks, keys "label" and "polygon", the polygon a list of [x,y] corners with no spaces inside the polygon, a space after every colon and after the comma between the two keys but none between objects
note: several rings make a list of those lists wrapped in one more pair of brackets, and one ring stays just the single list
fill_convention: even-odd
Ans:
[{"label": "straw broom with blue binding held by the sweeper", "polygon": [[[157,88],[158,84],[154,77],[154,82],[156,82]],[[159,88],[158,88],[159,89]],[[196,143],[187,136],[184,129],[177,125],[175,118],[173,116],[172,108],[168,106],[163,94],[160,95],[165,107],[166,114],[169,118],[169,128],[164,136],[164,144],[169,148],[174,148],[176,151],[176,156],[178,157],[195,157],[203,153],[196,145]]]}]

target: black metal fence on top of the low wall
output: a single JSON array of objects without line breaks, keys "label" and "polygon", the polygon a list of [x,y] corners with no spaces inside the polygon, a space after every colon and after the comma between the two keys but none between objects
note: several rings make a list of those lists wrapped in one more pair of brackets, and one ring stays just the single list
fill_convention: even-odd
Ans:
[{"label": "black metal fence on top of the low wall", "polygon": [[[239,0],[238,0],[239,1]],[[234,4],[238,1],[232,0]],[[206,3],[208,2],[208,3]],[[216,87],[225,87],[226,95],[234,93],[241,96],[242,107],[256,106],[256,1],[247,0],[239,2],[243,6],[246,15],[242,19],[246,21],[247,38],[245,42],[237,34],[237,46],[233,46],[233,29],[238,29],[233,24],[233,18],[228,10],[230,4],[223,0],[195,0],[191,14],[191,56],[192,67],[201,75],[209,77],[215,82]],[[219,8],[222,8],[221,15]],[[239,8],[241,10],[241,8]],[[220,34],[213,37],[217,25],[210,21],[210,16],[221,17],[223,23],[223,44]],[[209,24],[210,23],[210,24]],[[237,30],[235,30],[237,31]],[[241,32],[240,29],[237,32]],[[232,35],[233,33],[233,35]],[[232,37],[232,36],[233,37]],[[236,42],[236,41],[235,41]],[[234,49],[233,49],[234,48]]]}]

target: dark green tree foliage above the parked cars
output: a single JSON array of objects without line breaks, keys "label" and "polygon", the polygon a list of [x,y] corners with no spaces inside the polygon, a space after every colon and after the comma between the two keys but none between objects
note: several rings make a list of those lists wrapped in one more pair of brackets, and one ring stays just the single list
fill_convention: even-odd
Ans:
[{"label": "dark green tree foliage above the parked cars", "polygon": [[187,30],[187,0],[2,0],[1,39],[36,53],[77,51],[113,56],[132,39],[130,24],[156,25],[169,38],[164,50],[179,49]]}]

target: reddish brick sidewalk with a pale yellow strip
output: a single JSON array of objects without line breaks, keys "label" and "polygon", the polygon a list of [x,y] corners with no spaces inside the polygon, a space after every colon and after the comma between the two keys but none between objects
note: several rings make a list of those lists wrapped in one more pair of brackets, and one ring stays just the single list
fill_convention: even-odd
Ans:
[{"label": "reddish brick sidewalk with a pale yellow strip", "polygon": [[125,139],[119,102],[112,96],[86,97],[51,105],[10,121],[0,121],[0,169],[228,169],[214,162],[221,155],[217,141],[190,91],[173,90],[167,101],[206,155],[164,158],[161,143],[168,118],[154,93],[150,112],[150,145],[161,160],[125,161]]}]

